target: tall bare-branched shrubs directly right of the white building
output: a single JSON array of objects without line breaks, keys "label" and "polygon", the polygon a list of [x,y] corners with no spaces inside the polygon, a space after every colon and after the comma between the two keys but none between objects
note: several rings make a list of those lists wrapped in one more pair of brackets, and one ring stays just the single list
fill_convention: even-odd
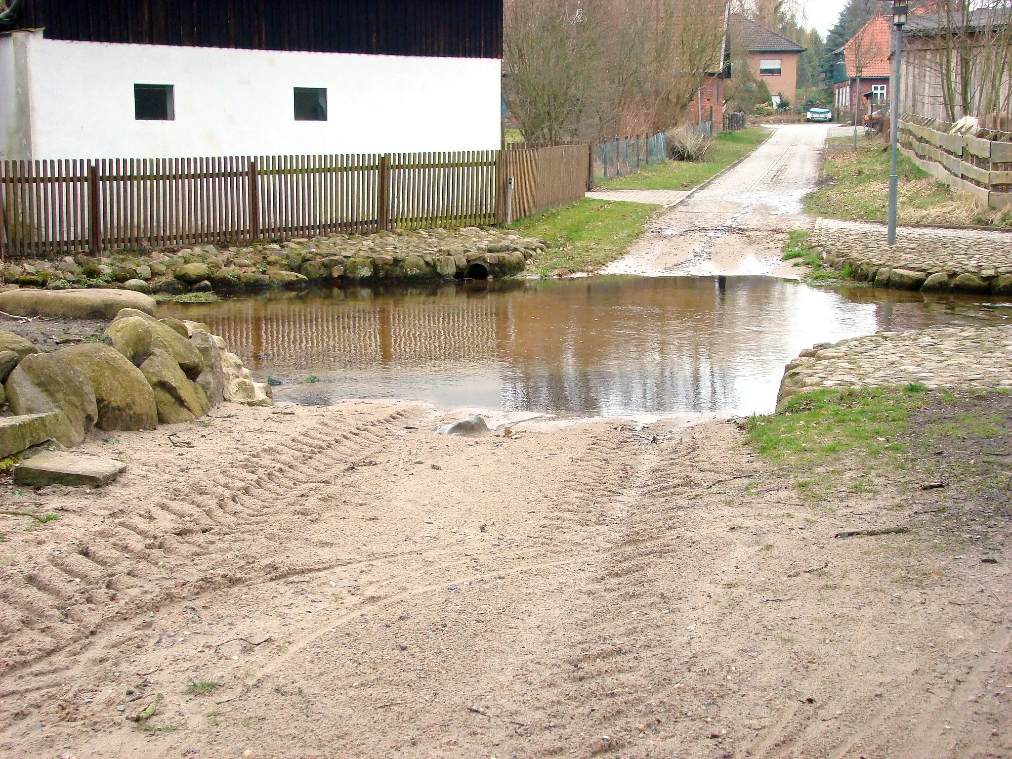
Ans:
[{"label": "tall bare-branched shrubs directly right of the white building", "polygon": [[526,140],[667,129],[721,68],[727,0],[507,0],[504,9],[506,92]]}]

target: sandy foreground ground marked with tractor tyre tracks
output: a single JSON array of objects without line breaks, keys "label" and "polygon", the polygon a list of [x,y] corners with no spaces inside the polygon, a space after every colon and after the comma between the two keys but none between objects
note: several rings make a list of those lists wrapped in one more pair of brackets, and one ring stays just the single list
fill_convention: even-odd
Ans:
[{"label": "sandy foreground ground marked with tractor tyre tracks", "polygon": [[5,487],[61,518],[2,517],[0,757],[1012,755],[1007,535],[916,473],[815,508],[731,421],[434,421],[225,405]]}]

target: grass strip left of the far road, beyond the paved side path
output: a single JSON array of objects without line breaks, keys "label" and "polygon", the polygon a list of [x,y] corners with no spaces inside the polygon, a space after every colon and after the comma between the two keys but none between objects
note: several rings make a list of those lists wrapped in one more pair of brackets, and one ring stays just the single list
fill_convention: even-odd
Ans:
[{"label": "grass strip left of the far road, beyond the paved side path", "polygon": [[628,176],[601,178],[600,184],[608,189],[692,189],[754,151],[768,135],[762,126],[721,132],[710,143],[705,161],[666,161]]}]

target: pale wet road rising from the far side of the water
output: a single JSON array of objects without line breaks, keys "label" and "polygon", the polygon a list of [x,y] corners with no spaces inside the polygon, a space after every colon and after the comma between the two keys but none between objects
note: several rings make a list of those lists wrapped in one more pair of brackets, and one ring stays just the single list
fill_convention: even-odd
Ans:
[{"label": "pale wet road rising from the far side of the water", "polygon": [[779,124],[731,171],[659,216],[604,274],[772,274],[797,277],[780,258],[790,230],[810,229],[802,198],[816,187],[828,130]]}]

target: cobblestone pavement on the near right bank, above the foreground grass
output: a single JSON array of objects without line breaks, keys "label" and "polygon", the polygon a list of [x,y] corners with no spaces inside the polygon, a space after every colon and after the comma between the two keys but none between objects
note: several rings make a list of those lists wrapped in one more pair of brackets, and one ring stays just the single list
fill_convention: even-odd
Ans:
[{"label": "cobblestone pavement on the near right bank, above the foreground grass", "polygon": [[784,368],[777,408],[793,395],[820,388],[908,383],[931,390],[1012,389],[1012,326],[930,327],[815,345]]}]

